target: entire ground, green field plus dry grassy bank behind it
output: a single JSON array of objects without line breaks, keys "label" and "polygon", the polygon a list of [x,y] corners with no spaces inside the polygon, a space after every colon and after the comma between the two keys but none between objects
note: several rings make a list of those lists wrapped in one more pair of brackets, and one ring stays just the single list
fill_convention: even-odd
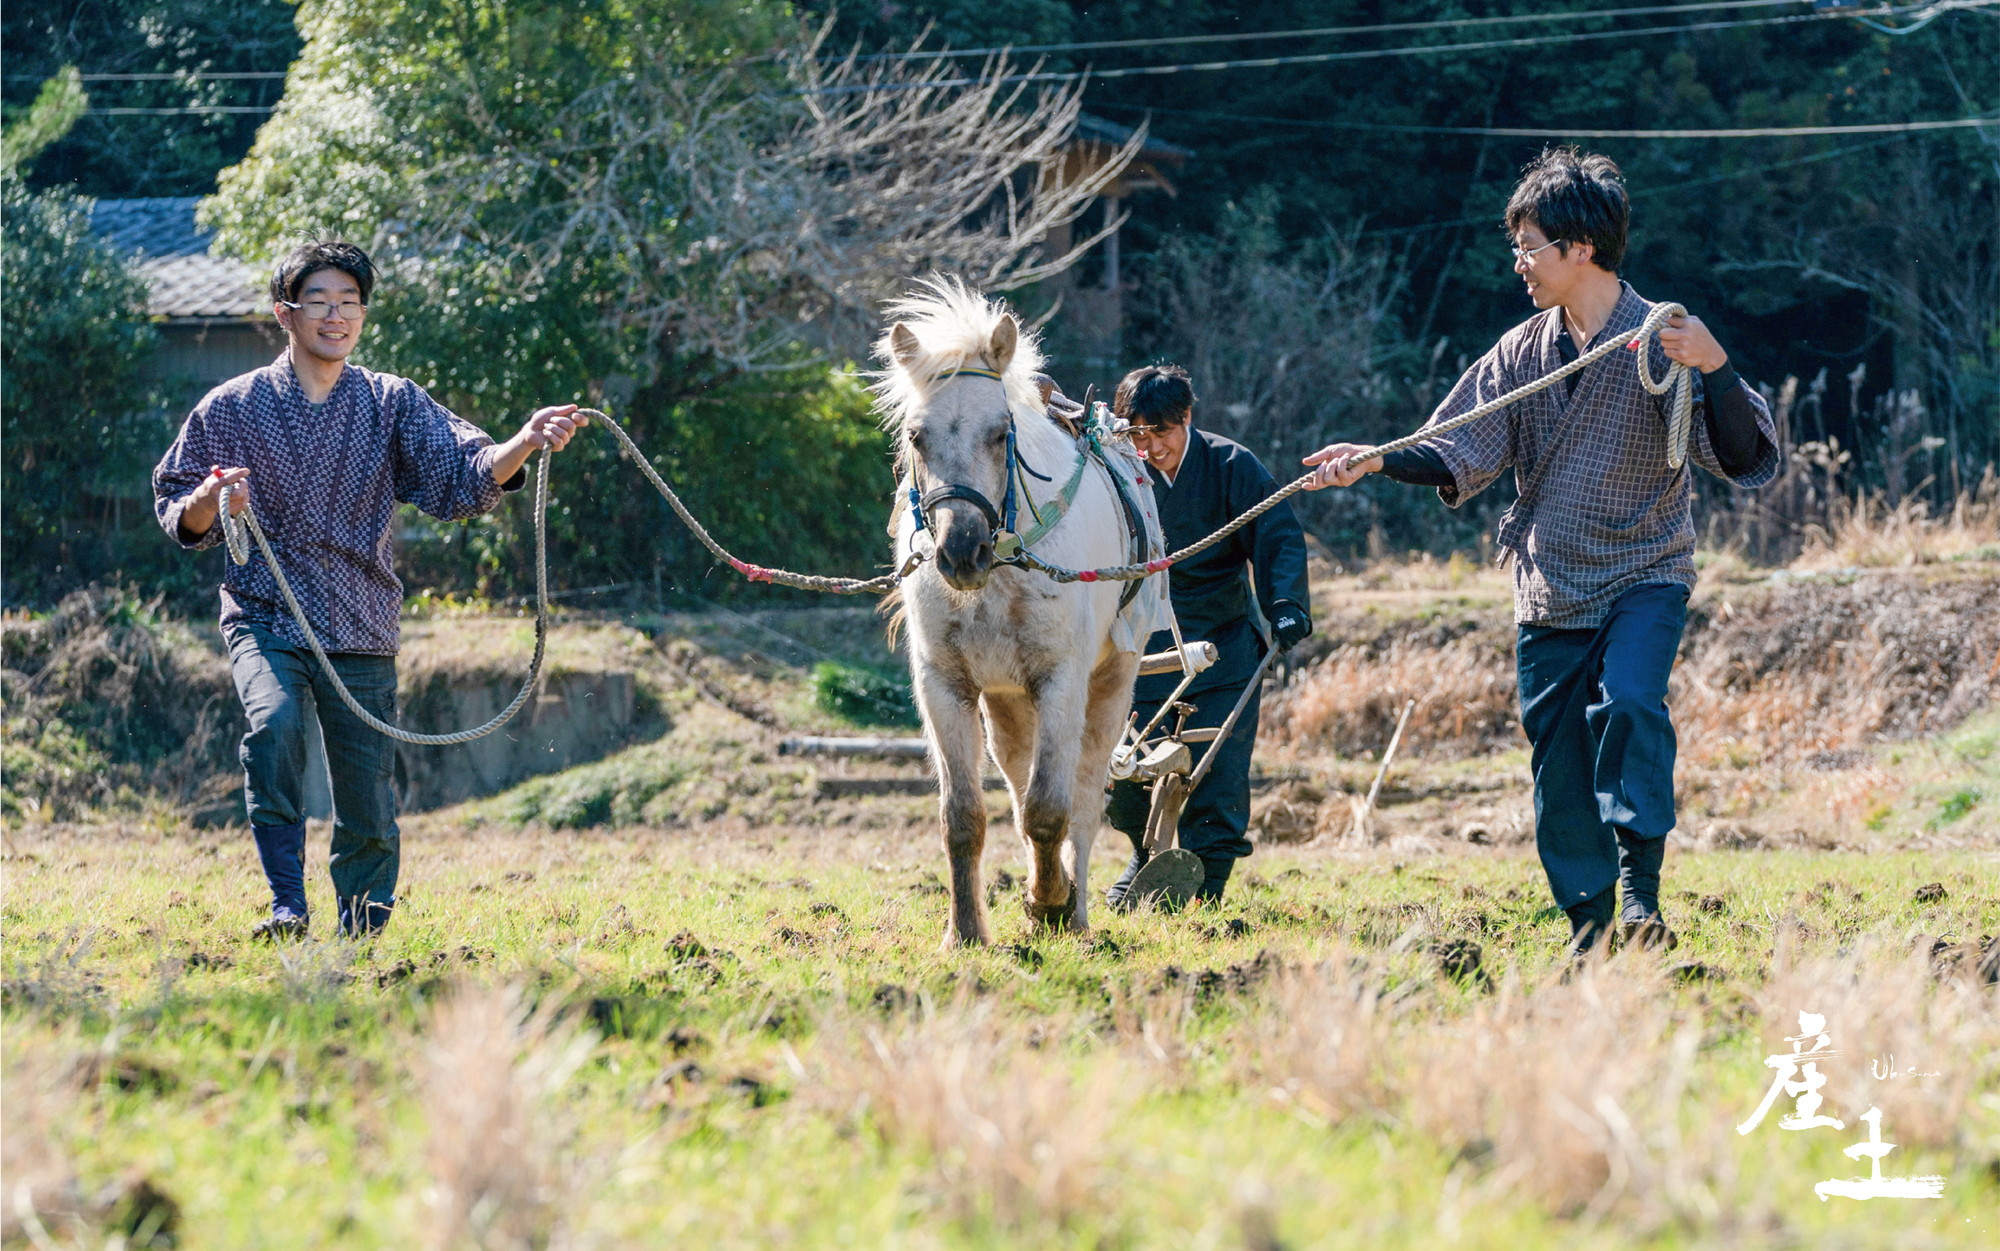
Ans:
[{"label": "entire ground, green field plus dry grassy bank behind it", "polygon": [[[280,949],[244,939],[246,833],[190,823],[238,785],[206,633],[8,618],[0,1243],[2000,1245],[2000,562],[1868,552],[1712,562],[1682,943],[1568,977],[1506,586],[1468,562],[1320,570],[1224,905],[1032,935],[990,793],[998,941],[964,953],[934,799],[828,789],[922,767],[778,751],[856,729],[814,671],[894,665],[866,610],[566,620],[552,665],[634,671],[646,735],[406,817],[388,933]],[[418,683],[514,673],[528,631],[410,641]],[[72,723],[200,733],[106,765],[48,745]],[[1802,1011],[1842,1127],[1784,1097],[1738,1133]],[[1942,1199],[1814,1195],[1866,1175],[1870,1107]]]}]

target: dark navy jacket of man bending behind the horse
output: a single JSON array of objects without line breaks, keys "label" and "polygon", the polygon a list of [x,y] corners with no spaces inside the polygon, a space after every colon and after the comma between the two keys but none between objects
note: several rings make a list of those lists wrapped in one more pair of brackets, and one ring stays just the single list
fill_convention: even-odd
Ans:
[{"label": "dark navy jacket of man bending behind the horse", "polygon": [[[1238,514],[1278,490],[1278,482],[1248,448],[1200,428],[1188,430],[1188,454],[1168,486],[1166,476],[1148,466],[1152,498],[1160,504],[1166,550],[1178,552],[1214,534]],[[1280,604],[1312,614],[1306,590],[1306,532],[1290,502],[1270,510],[1208,552],[1174,566],[1168,586],[1180,635],[1190,643],[1208,639],[1222,653],[1216,665],[1194,679],[1188,693],[1242,685],[1264,659],[1264,639],[1250,620],[1250,568],[1256,568],[1256,604],[1266,620],[1276,620]],[[1174,635],[1158,631],[1146,651],[1168,651]],[[1140,677],[1134,699],[1154,703],[1174,691],[1180,673]]]}]

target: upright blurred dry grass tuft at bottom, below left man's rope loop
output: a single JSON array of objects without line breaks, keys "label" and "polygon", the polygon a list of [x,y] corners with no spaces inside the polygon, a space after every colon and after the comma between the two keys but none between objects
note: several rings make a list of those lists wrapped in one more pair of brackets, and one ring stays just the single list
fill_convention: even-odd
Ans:
[{"label": "upright blurred dry grass tuft at bottom, below left man's rope loop", "polygon": [[430,1123],[432,1247],[554,1247],[578,1223],[552,1097],[596,1037],[518,987],[464,985],[432,1013],[418,1063]]}]

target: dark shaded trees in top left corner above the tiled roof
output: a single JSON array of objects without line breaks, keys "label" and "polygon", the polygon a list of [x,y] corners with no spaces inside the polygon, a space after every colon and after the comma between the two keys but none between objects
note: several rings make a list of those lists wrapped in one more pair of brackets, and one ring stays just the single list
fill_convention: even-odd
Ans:
[{"label": "dark shaded trees in top left corner above the tiled roof", "polygon": [[0,8],[6,100],[24,108],[62,66],[158,74],[92,82],[94,110],[36,164],[32,186],[88,196],[202,196],[242,158],[262,112],[112,114],[108,108],[248,108],[278,100],[298,54],[290,0],[10,0]]}]

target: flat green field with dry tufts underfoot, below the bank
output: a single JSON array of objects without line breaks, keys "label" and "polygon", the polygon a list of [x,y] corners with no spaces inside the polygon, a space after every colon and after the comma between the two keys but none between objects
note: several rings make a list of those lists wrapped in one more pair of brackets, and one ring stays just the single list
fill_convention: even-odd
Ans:
[{"label": "flat green field with dry tufts underfoot, below the bank", "polygon": [[[406,823],[386,935],[270,949],[248,839],[16,829],[6,1241],[2000,1239],[1992,851],[1674,853],[1680,949],[1562,979],[1520,847],[1274,847],[1222,907],[1078,939],[1028,933],[994,835],[988,951],[936,951],[908,825],[452,817]],[[1782,1099],[1738,1135],[1800,1011],[1846,1129],[1784,1131]],[[1866,1175],[1870,1105],[1884,1175],[1942,1199],[1814,1197]]]}]

